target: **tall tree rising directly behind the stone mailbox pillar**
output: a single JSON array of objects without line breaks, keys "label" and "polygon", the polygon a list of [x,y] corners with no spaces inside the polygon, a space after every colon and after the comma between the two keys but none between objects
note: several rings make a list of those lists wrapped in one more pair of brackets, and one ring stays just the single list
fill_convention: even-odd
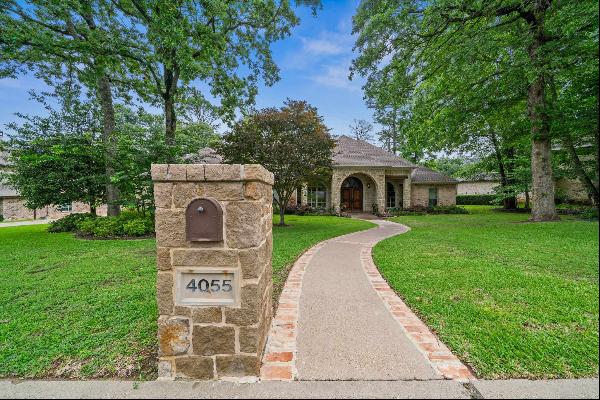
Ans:
[{"label": "tall tree rising directly behind the stone mailbox pillar", "polygon": [[[301,1],[316,7],[320,2]],[[201,82],[197,98],[220,101],[219,110],[233,118],[253,104],[262,79],[279,79],[270,45],[299,23],[289,1],[112,0],[113,29],[129,48],[121,55],[137,93],[162,106],[166,142],[173,145],[177,103]]]}]

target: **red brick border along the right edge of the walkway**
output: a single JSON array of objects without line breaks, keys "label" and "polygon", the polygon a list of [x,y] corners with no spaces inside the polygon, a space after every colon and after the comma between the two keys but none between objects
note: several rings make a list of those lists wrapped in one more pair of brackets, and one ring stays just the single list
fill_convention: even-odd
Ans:
[{"label": "red brick border along the right edge of the walkway", "polygon": [[415,347],[425,355],[432,367],[446,379],[461,382],[475,380],[471,373],[448,347],[442,343],[383,279],[372,257],[373,245],[361,250],[361,264],[371,286],[377,292],[396,322],[400,324]]}]

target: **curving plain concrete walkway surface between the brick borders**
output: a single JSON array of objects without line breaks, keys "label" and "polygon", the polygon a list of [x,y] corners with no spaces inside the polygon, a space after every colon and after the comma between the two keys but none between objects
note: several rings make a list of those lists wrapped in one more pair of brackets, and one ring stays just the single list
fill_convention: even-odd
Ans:
[{"label": "curving plain concrete walkway surface between the brick borders", "polygon": [[298,322],[299,380],[442,379],[373,290],[361,251],[406,232],[390,222],[327,241],[306,268]]}]

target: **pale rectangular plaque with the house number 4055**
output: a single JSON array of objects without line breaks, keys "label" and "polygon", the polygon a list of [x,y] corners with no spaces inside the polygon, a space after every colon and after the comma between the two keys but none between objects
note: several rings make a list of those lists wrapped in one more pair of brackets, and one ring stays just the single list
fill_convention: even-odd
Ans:
[{"label": "pale rectangular plaque with the house number 4055", "polygon": [[184,268],[177,271],[177,304],[182,306],[238,306],[237,269]]}]

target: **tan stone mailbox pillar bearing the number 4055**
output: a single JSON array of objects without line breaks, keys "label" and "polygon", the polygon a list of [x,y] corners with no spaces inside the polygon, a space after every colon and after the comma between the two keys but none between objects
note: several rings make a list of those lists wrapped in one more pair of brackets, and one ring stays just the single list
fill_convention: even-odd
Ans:
[{"label": "tan stone mailbox pillar bearing the number 4055", "polygon": [[159,378],[259,376],[272,317],[273,174],[155,164],[152,179]]}]

